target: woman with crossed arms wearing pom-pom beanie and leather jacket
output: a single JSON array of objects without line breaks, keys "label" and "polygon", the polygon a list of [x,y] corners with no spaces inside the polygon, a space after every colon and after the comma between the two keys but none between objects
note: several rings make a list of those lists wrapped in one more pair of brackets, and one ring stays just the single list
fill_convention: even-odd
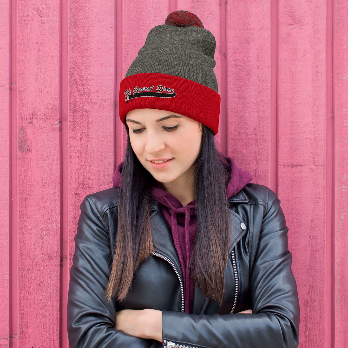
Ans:
[{"label": "woman with crossed arms wearing pom-pom beanie and leather jacket", "polygon": [[126,154],[114,187],[80,205],[70,348],[298,347],[280,200],[215,148],[214,52],[199,18],[176,11],[121,81]]}]

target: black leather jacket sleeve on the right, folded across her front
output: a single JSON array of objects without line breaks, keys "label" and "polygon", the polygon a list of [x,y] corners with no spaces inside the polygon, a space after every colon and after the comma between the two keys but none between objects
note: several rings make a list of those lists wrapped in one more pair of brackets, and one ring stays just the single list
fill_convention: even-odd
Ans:
[{"label": "black leather jacket sleeve on the right, folded across her front", "polygon": [[298,347],[300,308],[291,270],[292,254],[287,250],[288,228],[280,200],[267,189],[267,208],[256,250],[252,252],[255,257],[250,274],[253,313],[198,315],[163,311],[164,347],[168,341],[175,343],[168,347]]}]

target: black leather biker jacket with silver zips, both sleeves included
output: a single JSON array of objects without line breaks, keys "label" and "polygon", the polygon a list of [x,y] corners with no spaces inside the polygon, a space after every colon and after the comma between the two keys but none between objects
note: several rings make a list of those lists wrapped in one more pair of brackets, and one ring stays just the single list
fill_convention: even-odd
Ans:
[{"label": "black leather biker jacket with silver zips, both sleeves included", "polygon": [[[220,308],[197,287],[192,314],[183,312],[180,261],[157,201],[152,206],[151,232],[162,250],[155,247],[156,252],[135,272],[122,305],[104,300],[117,233],[119,190],[90,194],[80,205],[68,294],[70,348],[298,347],[300,308],[287,249],[288,228],[272,190],[248,183],[228,199],[232,233],[225,269],[227,299]],[[145,308],[162,311],[163,345],[115,329],[116,311]],[[237,314],[246,309],[253,313]]]}]

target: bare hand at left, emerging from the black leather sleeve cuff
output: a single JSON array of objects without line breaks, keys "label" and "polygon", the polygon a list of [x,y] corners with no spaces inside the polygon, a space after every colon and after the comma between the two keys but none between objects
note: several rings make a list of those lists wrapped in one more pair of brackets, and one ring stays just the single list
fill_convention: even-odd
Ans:
[{"label": "bare hand at left, emerging from the black leather sleeve cuff", "polygon": [[155,309],[123,309],[116,312],[116,330],[162,342],[162,311]]}]

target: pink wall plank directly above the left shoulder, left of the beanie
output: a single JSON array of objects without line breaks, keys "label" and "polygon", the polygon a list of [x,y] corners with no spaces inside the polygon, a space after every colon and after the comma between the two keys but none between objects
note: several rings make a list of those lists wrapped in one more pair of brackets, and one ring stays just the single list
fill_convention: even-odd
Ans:
[{"label": "pink wall plank directly above the left shoulder, left of the beanie", "polygon": [[114,4],[69,1],[68,195],[69,270],[79,205],[90,193],[112,187]]}]

